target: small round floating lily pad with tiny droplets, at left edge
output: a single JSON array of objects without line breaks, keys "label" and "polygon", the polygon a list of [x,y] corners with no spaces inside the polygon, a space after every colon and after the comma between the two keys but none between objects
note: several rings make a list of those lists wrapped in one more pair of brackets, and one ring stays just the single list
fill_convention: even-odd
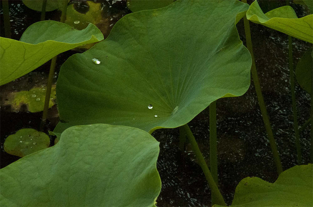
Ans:
[{"label": "small round floating lily pad with tiny droplets, at left edge", "polygon": [[3,148],[11,155],[23,157],[45,149],[49,145],[50,138],[44,132],[38,132],[35,129],[20,129],[5,139]]}]

